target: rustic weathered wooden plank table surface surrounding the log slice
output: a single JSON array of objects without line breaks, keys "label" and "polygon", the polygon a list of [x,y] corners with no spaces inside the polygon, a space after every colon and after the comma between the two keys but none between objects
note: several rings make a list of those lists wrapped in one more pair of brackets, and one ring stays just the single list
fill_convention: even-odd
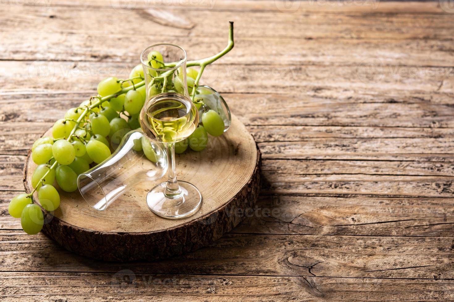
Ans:
[{"label": "rustic weathered wooden plank table surface surrounding the log slice", "polygon": [[[448,4],[10,0],[0,12],[2,301],[454,299]],[[150,44],[217,53],[227,20],[235,48],[203,82],[262,151],[250,217],[155,263],[95,261],[25,235],[7,205],[33,141]]]}]

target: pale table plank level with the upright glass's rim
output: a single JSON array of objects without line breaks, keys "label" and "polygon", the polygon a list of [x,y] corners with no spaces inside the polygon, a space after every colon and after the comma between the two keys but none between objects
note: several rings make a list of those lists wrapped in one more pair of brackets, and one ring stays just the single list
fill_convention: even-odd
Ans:
[{"label": "pale table plank level with the upright glass's rim", "polygon": [[[219,26],[222,29],[222,26]],[[20,43],[18,38],[20,37]],[[101,34],[43,33],[20,35],[17,32],[1,32],[5,41],[0,45],[1,60],[58,60],[58,61],[104,61],[138,64],[140,52],[158,41],[175,43],[188,50],[190,59],[205,58],[219,52],[225,46],[226,37],[185,36],[169,37],[158,33],[147,39],[138,39],[128,33],[118,33],[115,38],[104,39]],[[122,47],[118,47],[118,39]],[[36,41],[40,43],[35,43]],[[71,47],[68,47],[68,45]],[[23,45],[33,45],[33,48]],[[439,40],[393,40],[393,39],[348,39],[313,38],[301,43],[295,38],[253,38],[235,37],[236,48],[232,55],[222,58],[225,64],[281,64],[357,65],[380,58],[386,66],[409,66],[416,71],[419,66],[452,67],[451,41]],[[254,49],[267,49],[255,52]],[[348,53],[349,55],[345,55]],[[442,72],[441,69],[439,69]]]}]

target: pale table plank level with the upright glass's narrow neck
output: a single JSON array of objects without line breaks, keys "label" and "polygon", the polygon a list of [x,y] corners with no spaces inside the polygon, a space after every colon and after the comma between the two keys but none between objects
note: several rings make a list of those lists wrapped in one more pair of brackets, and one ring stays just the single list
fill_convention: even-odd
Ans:
[{"label": "pale table plank level with the upright glass's narrow neck", "polygon": [[[23,91],[15,83],[24,81],[24,72],[29,72],[27,91],[83,91],[90,93],[100,79],[111,75],[127,77],[133,66],[128,63],[112,62],[2,62],[0,84],[3,92]],[[336,99],[356,91],[367,92],[369,95],[385,95],[386,99],[394,95],[417,96],[423,94],[427,100],[434,92],[452,94],[454,89],[454,73],[452,68],[444,68],[443,72],[433,74],[433,67],[418,67],[416,74],[407,68],[382,68],[369,82],[363,76],[365,70],[360,66],[342,66],[339,68],[326,66],[282,66],[270,65],[220,65],[214,64],[207,68],[202,83],[214,86],[221,92],[291,94],[298,91],[301,100],[307,93],[319,97]],[[440,67],[437,67],[440,68]],[[409,73],[410,72],[410,73]],[[270,81],[270,77],[273,81]],[[375,78],[376,77],[376,78]],[[379,81],[375,82],[376,79]],[[93,93],[91,92],[91,93]],[[387,93],[390,92],[390,95]],[[430,93],[428,93],[430,92]],[[339,94],[340,93],[340,94]],[[281,96],[285,97],[285,96]],[[348,98],[347,97],[347,98]],[[390,105],[393,105],[391,103]],[[289,109],[289,108],[287,108]],[[332,110],[332,108],[330,108]],[[352,110],[353,108],[349,108]],[[358,106],[355,107],[358,109]],[[327,108],[328,110],[328,108]],[[452,108],[451,108],[452,110]],[[268,115],[270,113],[267,113]],[[265,115],[265,116],[266,116]],[[400,115],[397,115],[398,118]]]}]

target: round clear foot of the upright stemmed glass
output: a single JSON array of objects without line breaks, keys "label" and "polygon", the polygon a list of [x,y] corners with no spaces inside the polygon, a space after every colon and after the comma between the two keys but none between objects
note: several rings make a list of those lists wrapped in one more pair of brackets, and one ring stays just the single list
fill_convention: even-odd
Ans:
[{"label": "round clear foot of the upright stemmed glass", "polygon": [[178,181],[181,194],[169,198],[164,195],[167,182],[154,187],[147,194],[147,205],[150,210],[161,217],[176,219],[193,215],[202,204],[202,195],[197,187],[189,182]]}]

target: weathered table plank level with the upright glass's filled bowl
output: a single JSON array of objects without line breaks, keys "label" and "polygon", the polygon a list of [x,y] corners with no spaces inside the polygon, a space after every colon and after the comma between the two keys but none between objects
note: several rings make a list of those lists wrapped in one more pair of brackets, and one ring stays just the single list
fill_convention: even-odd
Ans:
[{"label": "weathered table plank level with the upright glass's filled bowl", "polygon": [[[222,81],[218,79],[213,82],[212,86],[221,85],[221,83]],[[54,85],[54,83],[50,82],[49,85]],[[0,94],[0,104],[2,105],[0,122],[47,121],[53,123],[61,118],[66,110],[78,106],[91,94],[94,94],[95,88],[92,91],[87,89],[85,91],[84,93],[19,92],[16,94],[9,92]],[[454,127],[451,118],[454,114],[454,98],[449,94],[437,95],[434,93],[430,94],[429,98],[429,93],[425,93],[427,99],[424,99],[422,95],[414,91],[409,92],[410,96],[395,96],[395,98],[392,94],[378,95],[378,92],[377,95],[372,96],[349,91],[345,95],[336,97],[338,93],[340,92],[337,88],[328,88],[325,92],[321,92],[321,96],[317,96],[318,92],[314,91],[306,91],[306,94],[303,95],[222,92],[222,96],[227,101],[232,113],[239,116],[246,125],[278,125],[282,128],[283,133],[292,131],[293,136],[300,133],[299,138],[305,137],[304,134],[308,128],[290,130],[285,126],[424,127],[431,129],[420,131],[429,133],[438,131],[433,128]],[[17,110],[18,108],[25,110]],[[46,114],[35,113],[44,111]],[[9,125],[9,123],[3,124]],[[337,129],[341,130],[341,128]],[[270,131],[277,134],[279,128]],[[375,130],[362,132],[365,131],[373,132]],[[394,129],[390,131],[394,131]],[[418,130],[409,129],[408,131]],[[403,135],[399,134],[400,137]],[[434,136],[437,135],[434,134]]]}]

